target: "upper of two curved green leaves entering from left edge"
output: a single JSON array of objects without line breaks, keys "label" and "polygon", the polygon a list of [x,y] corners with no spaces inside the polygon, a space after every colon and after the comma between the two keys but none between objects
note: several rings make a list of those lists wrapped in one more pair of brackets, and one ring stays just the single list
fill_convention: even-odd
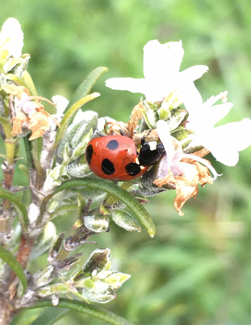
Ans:
[{"label": "upper of two curved green leaves entering from left edge", "polygon": [[8,191],[7,189],[0,186],[0,198],[6,199],[12,202],[18,212],[18,217],[23,231],[27,231],[29,218],[28,212],[25,205],[19,200],[19,198]]}]

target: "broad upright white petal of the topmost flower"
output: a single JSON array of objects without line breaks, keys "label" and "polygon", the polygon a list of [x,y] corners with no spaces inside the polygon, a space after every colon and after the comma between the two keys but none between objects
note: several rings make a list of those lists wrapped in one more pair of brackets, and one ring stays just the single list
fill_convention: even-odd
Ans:
[{"label": "broad upright white petal of the topmost flower", "polygon": [[160,84],[160,78],[162,81],[172,79],[180,70],[183,55],[181,41],[166,44],[160,44],[157,40],[147,42],[144,46],[144,77],[152,84]]}]

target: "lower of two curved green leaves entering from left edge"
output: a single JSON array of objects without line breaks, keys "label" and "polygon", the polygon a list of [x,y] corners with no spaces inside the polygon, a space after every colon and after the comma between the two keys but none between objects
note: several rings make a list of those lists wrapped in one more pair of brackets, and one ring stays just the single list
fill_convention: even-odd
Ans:
[{"label": "lower of two curved green leaves entering from left edge", "polygon": [[21,264],[19,264],[16,257],[12,253],[7,251],[2,245],[0,245],[0,258],[4,260],[8,264],[8,266],[10,266],[12,270],[16,273],[16,275],[19,277],[23,285],[22,294],[24,294],[24,292],[28,287],[28,282]]}]

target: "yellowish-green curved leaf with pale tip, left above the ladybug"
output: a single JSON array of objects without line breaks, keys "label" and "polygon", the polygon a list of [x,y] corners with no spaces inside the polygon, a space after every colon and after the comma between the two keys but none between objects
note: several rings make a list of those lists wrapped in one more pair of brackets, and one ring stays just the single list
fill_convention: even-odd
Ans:
[{"label": "yellowish-green curved leaf with pale tip, left above the ladybug", "polygon": [[67,110],[67,112],[65,113],[62,121],[60,122],[61,128],[57,129],[57,133],[56,133],[56,139],[55,139],[55,143],[54,143],[54,148],[57,147],[58,143],[61,141],[61,139],[63,138],[67,127],[69,125],[70,119],[71,117],[86,103],[88,103],[90,100],[93,100],[94,98],[99,97],[100,94],[99,93],[92,93],[90,95],[87,95],[85,97],[82,97],[80,100],[78,100],[75,104],[73,104],[69,110]]}]

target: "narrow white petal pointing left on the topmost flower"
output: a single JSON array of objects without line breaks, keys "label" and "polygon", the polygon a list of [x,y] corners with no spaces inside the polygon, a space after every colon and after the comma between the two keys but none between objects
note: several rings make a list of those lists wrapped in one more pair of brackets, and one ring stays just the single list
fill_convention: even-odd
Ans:
[{"label": "narrow white petal pointing left on the topmost flower", "polygon": [[114,90],[128,90],[131,93],[146,92],[145,79],[134,78],[110,78],[106,81],[106,86]]}]

